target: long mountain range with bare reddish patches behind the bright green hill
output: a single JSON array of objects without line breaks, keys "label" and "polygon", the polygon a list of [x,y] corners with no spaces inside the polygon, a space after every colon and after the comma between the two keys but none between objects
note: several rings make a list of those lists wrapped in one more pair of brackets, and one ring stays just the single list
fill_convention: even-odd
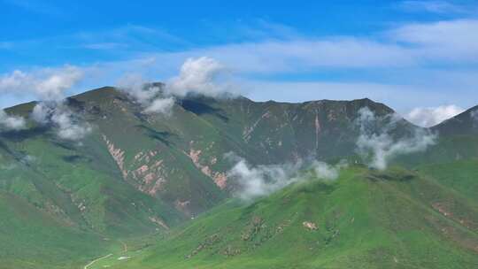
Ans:
[{"label": "long mountain range with bare reddish patches behind the bright green hill", "polygon": [[[36,104],[41,103],[6,109],[26,117],[27,128],[0,132],[0,191],[29,204],[29,221],[38,214],[55,220],[65,238],[94,234],[94,240],[101,243],[91,249],[89,257],[103,257],[108,248],[117,251],[120,244],[111,238],[163,236],[230,201],[238,190],[238,180],[229,175],[235,165],[227,158],[231,152],[247,161],[251,171],[308,158],[334,162],[345,158],[358,165],[363,163],[357,152],[358,137],[363,135],[358,119],[365,108],[381,122],[384,119],[375,126],[379,135],[386,129],[400,139],[413,130],[426,129],[390,118],[395,111],[368,98],[280,103],[184,96],[176,98],[170,114],[148,114],[124,91],[104,87],[67,97],[59,104],[71,111],[72,124],[89,125],[89,134],[75,141],[59,136],[54,122],[42,125],[30,119]],[[396,125],[393,130],[389,130],[390,120]],[[473,159],[478,155],[474,145],[478,149],[473,134],[464,140],[451,133],[425,152],[397,158],[390,165],[442,164],[457,156]],[[14,216],[19,212],[14,211]],[[0,216],[7,215],[12,212],[0,211]],[[6,234],[13,229],[4,228]],[[33,230],[26,231],[28,238]],[[50,242],[52,234],[46,231],[30,238]],[[0,233],[2,238],[8,240]],[[53,250],[66,242],[51,243]],[[51,252],[31,251],[38,253],[35,257],[57,260],[57,267],[62,267],[61,258]],[[73,257],[74,253],[71,250],[66,255]],[[15,265],[18,257],[5,258]],[[78,255],[72,263],[85,265],[87,260]]]}]

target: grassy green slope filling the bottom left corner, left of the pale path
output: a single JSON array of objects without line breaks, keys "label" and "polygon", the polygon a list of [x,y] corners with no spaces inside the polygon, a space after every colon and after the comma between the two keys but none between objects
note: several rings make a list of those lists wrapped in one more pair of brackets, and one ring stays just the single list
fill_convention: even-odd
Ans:
[{"label": "grassy green slope filling the bottom left corner, left of the pale path", "polygon": [[79,268],[114,245],[0,190],[0,268]]}]

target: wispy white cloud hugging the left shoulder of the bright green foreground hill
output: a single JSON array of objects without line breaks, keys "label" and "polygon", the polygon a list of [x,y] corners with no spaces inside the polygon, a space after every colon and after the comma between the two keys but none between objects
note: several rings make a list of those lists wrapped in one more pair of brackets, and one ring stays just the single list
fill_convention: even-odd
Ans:
[{"label": "wispy white cloud hugging the left shoulder of the bright green foreground hill", "polygon": [[314,178],[322,181],[334,181],[339,176],[339,170],[344,163],[328,165],[313,161],[305,165],[302,161],[282,165],[250,165],[244,158],[234,153],[227,153],[226,158],[235,165],[227,172],[227,178],[238,185],[235,195],[248,201],[261,196],[267,196],[275,191],[298,181],[305,181],[299,172],[307,169],[312,171]]}]

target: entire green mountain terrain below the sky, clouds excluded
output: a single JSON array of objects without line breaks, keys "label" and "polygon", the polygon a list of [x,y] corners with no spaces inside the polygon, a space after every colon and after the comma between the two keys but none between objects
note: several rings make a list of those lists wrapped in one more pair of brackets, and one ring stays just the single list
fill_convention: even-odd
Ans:
[{"label": "entire green mountain terrain below the sky, clouds excluded", "polygon": [[[434,127],[438,143],[395,159],[395,168],[353,165],[338,181],[310,178],[244,205],[229,199],[236,182],[227,178],[227,152],[251,165],[354,163],[359,109],[393,111],[368,99],[187,97],[170,116],[147,115],[114,88],[67,104],[93,126],[81,142],[33,121],[0,133],[0,268],[83,268],[96,257],[104,259],[89,268],[478,264],[478,128],[470,111]],[[7,111],[28,117],[34,106]],[[396,135],[410,128],[401,121]]]}]

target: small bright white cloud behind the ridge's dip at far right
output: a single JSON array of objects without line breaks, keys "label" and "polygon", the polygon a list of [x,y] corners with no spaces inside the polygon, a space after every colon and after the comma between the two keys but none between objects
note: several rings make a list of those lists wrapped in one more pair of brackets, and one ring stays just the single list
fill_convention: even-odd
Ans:
[{"label": "small bright white cloud behind the ridge's dip at far right", "polygon": [[454,104],[437,107],[418,107],[407,113],[405,119],[420,127],[433,127],[463,111],[465,110]]}]

